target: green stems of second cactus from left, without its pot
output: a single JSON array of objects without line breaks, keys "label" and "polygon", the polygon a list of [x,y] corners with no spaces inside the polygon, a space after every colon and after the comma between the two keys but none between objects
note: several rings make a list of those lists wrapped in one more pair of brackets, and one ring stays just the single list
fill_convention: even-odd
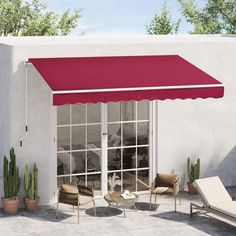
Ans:
[{"label": "green stems of second cactus from left, without its pot", "polygon": [[24,189],[26,199],[38,198],[38,168],[36,163],[33,165],[32,173],[30,172],[28,165],[25,166]]}]

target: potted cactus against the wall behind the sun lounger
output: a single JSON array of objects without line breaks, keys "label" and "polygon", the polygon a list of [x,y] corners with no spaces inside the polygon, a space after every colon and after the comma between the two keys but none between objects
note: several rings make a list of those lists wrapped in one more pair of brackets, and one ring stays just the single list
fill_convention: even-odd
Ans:
[{"label": "potted cactus against the wall behind the sun lounger", "polygon": [[199,179],[200,177],[200,159],[197,159],[197,162],[191,163],[190,158],[187,159],[187,171],[188,171],[188,178],[189,182],[187,182],[188,185],[188,191],[191,194],[197,194],[197,191],[195,187],[193,186],[193,181],[195,179]]}]

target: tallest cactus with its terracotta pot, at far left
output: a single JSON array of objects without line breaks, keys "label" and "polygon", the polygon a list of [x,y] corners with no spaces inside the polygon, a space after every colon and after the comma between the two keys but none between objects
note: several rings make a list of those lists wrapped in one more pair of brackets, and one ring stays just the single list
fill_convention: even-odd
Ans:
[{"label": "tallest cactus with its terracotta pot, at far left", "polygon": [[20,189],[19,168],[16,166],[16,155],[14,148],[10,149],[10,162],[4,156],[3,161],[3,186],[4,197],[2,205],[4,212],[10,215],[16,214],[20,204],[18,196]]}]

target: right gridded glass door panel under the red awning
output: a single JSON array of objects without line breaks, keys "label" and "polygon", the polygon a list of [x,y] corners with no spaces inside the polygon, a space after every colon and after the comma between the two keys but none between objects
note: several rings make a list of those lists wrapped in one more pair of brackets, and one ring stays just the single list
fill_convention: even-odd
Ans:
[{"label": "right gridded glass door panel under the red awning", "polygon": [[[108,104],[107,178],[121,180],[115,190],[147,190],[149,184],[149,102]],[[109,190],[109,186],[108,190]]]}]

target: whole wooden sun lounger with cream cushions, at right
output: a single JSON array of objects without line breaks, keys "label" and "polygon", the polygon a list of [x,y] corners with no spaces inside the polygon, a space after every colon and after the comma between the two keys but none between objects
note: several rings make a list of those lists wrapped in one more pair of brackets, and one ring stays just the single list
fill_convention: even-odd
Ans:
[{"label": "whole wooden sun lounger with cream cushions, at right", "polygon": [[236,223],[236,201],[233,201],[218,176],[198,179],[193,184],[202,198],[203,205],[190,203],[191,216],[207,212]]}]

